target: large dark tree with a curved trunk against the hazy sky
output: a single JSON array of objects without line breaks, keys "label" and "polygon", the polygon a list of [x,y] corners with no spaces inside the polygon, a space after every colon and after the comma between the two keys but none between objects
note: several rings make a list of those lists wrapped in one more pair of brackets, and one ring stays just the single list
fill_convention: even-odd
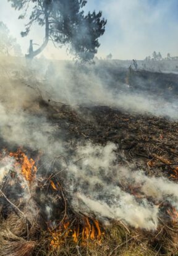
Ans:
[{"label": "large dark tree with a curved trunk against the hazy sky", "polygon": [[23,19],[30,12],[29,22],[25,25],[27,36],[34,23],[45,26],[45,40],[35,51],[30,51],[26,56],[32,59],[41,53],[52,40],[54,45],[70,46],[70,53],[76,58],[88,61],[94,58],[100,43],[98,38],[105,31],[106,20],[102,12],[88,12],[84,14],[83,7],[87,0],[8,0],[12,7],[23,10],[19,16]]}]

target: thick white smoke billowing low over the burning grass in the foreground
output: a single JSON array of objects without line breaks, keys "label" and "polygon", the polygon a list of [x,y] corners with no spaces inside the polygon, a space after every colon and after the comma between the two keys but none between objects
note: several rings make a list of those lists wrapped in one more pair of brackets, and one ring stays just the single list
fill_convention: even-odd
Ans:
[{"label": "thick white smoke billowing low over the burning grass in the foreground", "polygon": [[108,218],[135,228],[156,229],[159,203],[169,202],[178,210],[178,184],[117,164],[114,150],[113,143],[105,147],[90,143],[77,149],[75,159],[82,159],[70,164],[67,183],[75,211],[103,221]]}]

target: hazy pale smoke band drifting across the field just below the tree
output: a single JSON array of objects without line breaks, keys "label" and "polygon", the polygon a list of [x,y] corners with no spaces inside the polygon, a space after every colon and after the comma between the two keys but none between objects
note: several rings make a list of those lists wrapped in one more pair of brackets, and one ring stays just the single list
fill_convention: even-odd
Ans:
[{"label": "hazy pale smoke band drifting across the field just below the tree", "polygon": [[8,61],[5,63],[5,67],[2,67],[4,74],[1,75],[1,103],[7,103],[7,108],[39,112],[38,100],[43,96],[47,102],[62,102],[74,108],[78,105],[105,105],[130,113],[178,118],[176,85],[173,90],[163,85],[161,88],[161,84],[166,82],[163,80],[158,84],[155,79],[150,90],[150,83],[136,77],[138,85],[132,88],[127,82],[129,71],[117,61],[80,65],[73,62],[48,62],[41,58],[27,69],[23,61],[17,68],[14,59],[11,74],[10,64]]}]

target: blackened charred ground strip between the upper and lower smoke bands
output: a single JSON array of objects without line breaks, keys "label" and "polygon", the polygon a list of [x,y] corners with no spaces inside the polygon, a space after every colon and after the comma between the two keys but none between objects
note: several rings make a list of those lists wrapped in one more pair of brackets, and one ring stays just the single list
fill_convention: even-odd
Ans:
[{"label": "blackened charred ground strip between the upper and lower smoke bands", "polygon": [[124,155],[118,161],[135,163],[136,168],[150,174],[174,175],[178,160],[177,121],[125,113],[108,106],[79,106],[77,111],[69,106],[47,106],[46,113],[69,143],[78,139],[101,145],[113,142]]}]

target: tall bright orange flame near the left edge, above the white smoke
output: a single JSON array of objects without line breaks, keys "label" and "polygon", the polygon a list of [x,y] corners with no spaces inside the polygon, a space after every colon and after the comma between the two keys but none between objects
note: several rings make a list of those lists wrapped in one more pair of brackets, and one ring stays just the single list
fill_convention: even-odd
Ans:
[{"label": "tall bright orange flame near the left edge, above the white smoke", "polygon": [[25,177],[25,179],[32,182],[37,171],[35,161],[32,158],[29,159],[27,155],[25,155],[25,153],[23,153],[20,149],[15,153],[9,153],[9,155],[15,158],[17,164],[20,164],[22,175]]}]

